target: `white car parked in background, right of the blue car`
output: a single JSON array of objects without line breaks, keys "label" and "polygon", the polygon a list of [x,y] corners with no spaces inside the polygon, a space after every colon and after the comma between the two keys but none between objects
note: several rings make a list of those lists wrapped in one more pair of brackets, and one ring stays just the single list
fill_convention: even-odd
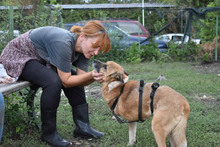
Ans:
[{"label": "white car parked in background, right of the blue car", "polygon": [[[177,44],[181,44],[182,43],[182,39],[183,39],[184,34],[180,34],[180,33],[172,33],[172,34],[164,34],[164,35],[160,35],[160,36],[156,36],[155,38],[158,40],[163,40],[166,43],[173,41],[174,43]],[[200,39],[192,39],[193,42],[195,42],[196,44],[200,44],[201,40]],[[189,36],[186,35],[185,39],[184,39],[184,43],[189,42]]]}]

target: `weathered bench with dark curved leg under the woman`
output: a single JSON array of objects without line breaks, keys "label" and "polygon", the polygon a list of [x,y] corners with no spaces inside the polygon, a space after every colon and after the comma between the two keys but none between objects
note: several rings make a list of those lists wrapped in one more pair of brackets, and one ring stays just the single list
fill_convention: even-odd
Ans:
[{"label": "weathered bench with dark curved leg under the woman", "polygon": [[0,92],[2,93],[3,96],[6,96],[13,92],[20,91],[28,87],[30,87],[30,89],[28,90],[28,94],[25,98],[26,104],[28,106],[28,116],[30,117],[30,119],[35,120],[37,127],[40,129],[41,125],[37,123],[37,116],[34,109],[34,97],[39,87],[31,84],[28,81],[18,81],[13,83],[0,84]]}]

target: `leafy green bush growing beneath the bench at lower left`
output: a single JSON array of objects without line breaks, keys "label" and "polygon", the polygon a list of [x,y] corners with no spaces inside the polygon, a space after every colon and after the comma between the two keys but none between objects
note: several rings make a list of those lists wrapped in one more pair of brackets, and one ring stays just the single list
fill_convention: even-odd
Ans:
[{"label": "leafy green bush growing beneath the bench at lower left", "polygon": [[23,93],[11,94],[5,97],[6,111],[5,111],[5,127],[8,135],[13,139],[22,138],[24,134],[30,134],[36,128],[35,121],[28,115],[28,107],[26,105],[27,91]]}]

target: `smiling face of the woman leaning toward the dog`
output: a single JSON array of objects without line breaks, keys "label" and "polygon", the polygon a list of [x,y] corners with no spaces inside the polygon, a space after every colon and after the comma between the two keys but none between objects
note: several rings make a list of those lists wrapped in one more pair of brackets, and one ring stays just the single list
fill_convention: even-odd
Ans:
[{"label": "smiling face of the woman leaning toward the dog", "polygon": [[92,47],[92,45],[96,43],[97,39],[98,39],[98,36],[96,37],[84,36],[84,38],[82,39],[81,51],[87,59],[90,59],[91,57],[98,55],[99,47],[97,48]]}]

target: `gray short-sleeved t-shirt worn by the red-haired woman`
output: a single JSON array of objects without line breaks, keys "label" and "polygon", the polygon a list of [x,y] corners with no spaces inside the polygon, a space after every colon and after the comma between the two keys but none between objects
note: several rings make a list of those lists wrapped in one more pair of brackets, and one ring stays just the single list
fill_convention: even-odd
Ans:
[{"label": "gray short-sleeved t-shirt worn by the red-haired woman", "polygon": [[34,29],[30,39],[42,59],[63,72],[70,72],[72,65],[88,71],[89,59],[75,52],[77,35],[58,27],[47,26]]}]

